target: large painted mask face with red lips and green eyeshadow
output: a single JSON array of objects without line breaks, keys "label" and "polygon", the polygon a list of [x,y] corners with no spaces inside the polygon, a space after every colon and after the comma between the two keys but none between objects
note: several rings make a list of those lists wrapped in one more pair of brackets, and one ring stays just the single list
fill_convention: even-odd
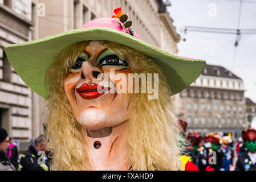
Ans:
[{"label": "large painted mask face with red lips and green eyeshadow", "polygon": [[64,90],[75,118],[84,129],[111,131],[111,127],[129,120],[132,95],[119,90],[121,86],[117,85],[128,89],[128,80],[117,78],[119,73],[126,78],[132,73],[128,60],[120,59],[96,40],[84,48],[70,69]]}]

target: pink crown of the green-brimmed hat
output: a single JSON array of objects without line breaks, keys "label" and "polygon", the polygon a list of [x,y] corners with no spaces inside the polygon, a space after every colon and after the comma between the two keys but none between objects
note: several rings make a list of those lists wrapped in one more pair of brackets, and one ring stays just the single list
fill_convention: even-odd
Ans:
[{"label": "pink crown of the green-brimmed hat", "polygon": [[[115,18],[98,18],[84,24],[81,28],[104,27],[104,28],[111,28],[113,30],[121,31],[127,34],[127,32],[124,30],[124,28],[122,28],[119,25],[119,23],[121,22]],[[137,39],[140,39],[134,30],[133,30],[133,36],[135,36],[135,38]]]}]

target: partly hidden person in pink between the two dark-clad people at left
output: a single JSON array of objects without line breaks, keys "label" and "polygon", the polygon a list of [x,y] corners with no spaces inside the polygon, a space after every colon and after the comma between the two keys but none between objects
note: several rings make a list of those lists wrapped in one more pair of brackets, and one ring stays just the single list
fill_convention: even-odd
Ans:
[{"label": "partly hidden person in pink between the two dark-clad people at left", "polygon": [[18,148],[14,143],[14,139],[13,137],[9,137],[10,139],[10,146],[7,149],[7,155],[11,160],[11,163],[13,164],[13,166],[15,167],[16,170],[18,170],[18,160],[19,160],[19,152],[18,152]]}]

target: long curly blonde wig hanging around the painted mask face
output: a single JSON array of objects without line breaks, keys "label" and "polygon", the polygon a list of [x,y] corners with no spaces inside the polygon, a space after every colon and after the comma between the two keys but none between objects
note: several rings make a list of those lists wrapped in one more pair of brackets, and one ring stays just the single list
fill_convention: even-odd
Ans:
[{"label": "long curly blonde wig hanging around the painted mask face", "polygon": [[[48,88],[47,141],[52,152],[51,170],[90,170],[83,129],[72,114],[64,92],[70,68],[91,41],[72,44],[55,57],[46,72]],[[170,89],[155,61],[144,53],[107,41],[101,45],[129,61],[133,73],[159,73],[159,97],[148,100],[148,93],[132,95],[132,116],[128,121],[129,162],[133,170],[180,170],[183,151],[181,129],[173,114]]]}]

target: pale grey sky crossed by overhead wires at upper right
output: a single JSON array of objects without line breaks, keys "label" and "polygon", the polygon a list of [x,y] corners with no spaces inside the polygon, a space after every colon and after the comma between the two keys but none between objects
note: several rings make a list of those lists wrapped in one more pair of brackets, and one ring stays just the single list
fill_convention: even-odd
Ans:
[{"label": "pale grey sky crossed by overhead wires at upper right", "polygon": [[[256,29],[256,0],[243,0],[240,28]],[[171,0],[168,7],[170,16],[181,41],[178,55],[205,59],[208,64],[222,65],[242,78],[245,96],[256,102],[256,35],[241,35],[237,47],[234,69],[233,55],[236,35],[188,32],[184,35],[183,26],[215,28],[237,28],[238,0]],[[249,3],[253,2],[253,3]],[[254,3],[255,2],[255,3]],[[210,3],[216,4],[216,16],[210,16]],[[182,39],[186,38],[184,42]]]}]

